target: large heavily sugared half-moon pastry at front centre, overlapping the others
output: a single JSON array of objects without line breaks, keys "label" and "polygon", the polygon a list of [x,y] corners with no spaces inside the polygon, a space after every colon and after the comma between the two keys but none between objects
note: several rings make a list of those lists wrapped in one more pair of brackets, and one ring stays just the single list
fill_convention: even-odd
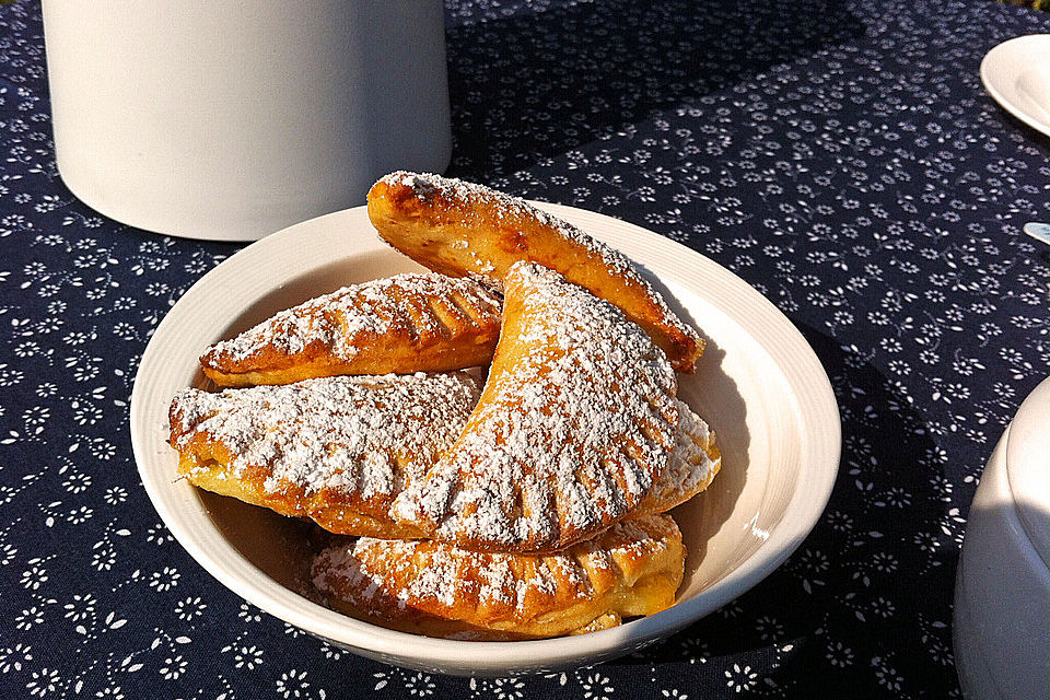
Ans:
[{"label": "large heavily sugared half-moon pastry at front centre, overlapping the others", "polygon": [[395,517],[467,549],[557,551],[623,520],[675,445],[677,381],[616,306],[518,262],[463,435],[397,497]]}]

